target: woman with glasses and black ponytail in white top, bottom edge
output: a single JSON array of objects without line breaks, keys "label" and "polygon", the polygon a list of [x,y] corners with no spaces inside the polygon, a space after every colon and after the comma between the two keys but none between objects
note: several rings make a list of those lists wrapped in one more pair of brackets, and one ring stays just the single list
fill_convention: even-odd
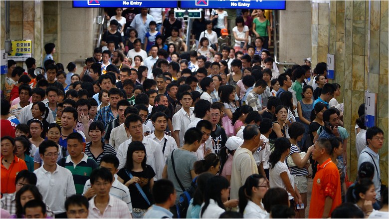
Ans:
[{"label": "woman with glasses and black ponytail in white top, bottom edge", "polygon": [[262,204],[269,185],[265,177],[253,174],[239,189],[239,213],[243,218],[266,218],[267,212]]}]

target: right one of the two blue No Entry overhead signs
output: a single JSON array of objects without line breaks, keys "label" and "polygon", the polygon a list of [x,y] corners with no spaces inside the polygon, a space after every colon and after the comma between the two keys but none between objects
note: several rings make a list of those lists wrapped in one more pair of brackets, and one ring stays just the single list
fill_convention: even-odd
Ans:
[{"label": "right one of the two blue No Entry overhead signs", "polygon": [[284,0],[182,0],[180,8],[285,10]]}]

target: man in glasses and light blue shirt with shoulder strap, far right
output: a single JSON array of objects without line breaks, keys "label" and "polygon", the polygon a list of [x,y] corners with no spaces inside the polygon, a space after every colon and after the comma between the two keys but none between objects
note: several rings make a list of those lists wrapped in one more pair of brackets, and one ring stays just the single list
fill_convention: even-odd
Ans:
[{"label": "man in glasses and light blue shirt with shoulder strap, far right", "polygon": [[376,126],[369,128],[366,131],[366,144],[368,146],[362,150],[358,159],[358,169],[364,162],[372,163],[375,167],[373,183],[376,189],[377,202],[373,205],[373,208],[376,210],[379,210],[381,206],[381,171],[378,151],[382,148],[384,141],[384,131],[382,129]]}]

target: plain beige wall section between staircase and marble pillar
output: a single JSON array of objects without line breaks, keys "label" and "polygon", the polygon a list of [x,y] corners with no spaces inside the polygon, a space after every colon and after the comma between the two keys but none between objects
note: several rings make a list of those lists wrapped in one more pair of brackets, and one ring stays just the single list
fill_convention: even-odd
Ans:
[{"label": "plain beige wall section between staircase and marble pillar", "polygon": [[311,57],[311,2],[286,1],[279,11],[279,62],[304,64]]}]

